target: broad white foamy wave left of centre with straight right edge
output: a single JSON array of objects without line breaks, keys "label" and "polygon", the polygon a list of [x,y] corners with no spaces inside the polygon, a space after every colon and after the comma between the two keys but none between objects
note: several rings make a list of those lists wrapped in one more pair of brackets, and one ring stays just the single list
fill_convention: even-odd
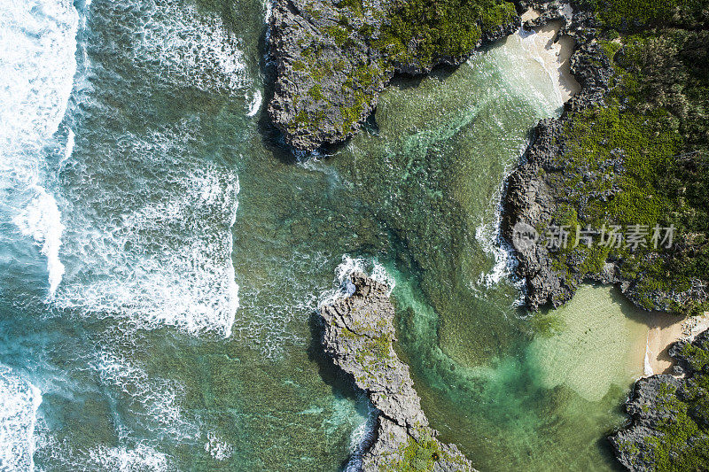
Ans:
[{"label": "broad white foamy wave left of centre with straight right edge", "polygon": [[70,244],[81,254],[83,274],[66,280],[55,306],[120,317],[135,329],[169,325],[231,336],[239,308],[231,258],[238,176],[207,167],[180,179],[179,195],[125,213],[118,223],[82,222],[74,231],[81,237]]}]

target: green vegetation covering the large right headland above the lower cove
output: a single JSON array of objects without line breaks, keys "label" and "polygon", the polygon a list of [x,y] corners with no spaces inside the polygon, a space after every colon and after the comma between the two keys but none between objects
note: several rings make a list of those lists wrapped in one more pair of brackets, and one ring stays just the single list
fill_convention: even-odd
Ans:
[{"label": "green vegetation covering the large right headland above the lower cove", "polygon": [[[634,11],[614,12],[627,18]],[[638,281],[638,302],[651,308],[658,290],[687,290],[709,277],[709,32],[648,30],[601,45],[616,72],[613,89],[604,106],[565,124],[565,172],[548,175],[564,202],[554,224],[624,232],[643,225],[648,247],[602,247],[596,236],[593,248],[574,248],[571,235],[569,247],[553,252],[553,265],[572,280],[572,267],[585,275],[619,260],[622,275]],[[670,226],[673,247],[656,250],[654,228]]]}]

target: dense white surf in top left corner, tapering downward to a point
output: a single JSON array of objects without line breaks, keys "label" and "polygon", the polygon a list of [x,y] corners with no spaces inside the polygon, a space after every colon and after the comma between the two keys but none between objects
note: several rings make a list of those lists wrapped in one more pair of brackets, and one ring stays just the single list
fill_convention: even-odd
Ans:
[{"label": "dense white surf in top left corner, tapering downward to a point", "polygon": [[76,61],[78,13],[70,0],[0,4],[0,202],[25,236],[42,246],[50,294],[64,272],[63,226],[46,189],[46,151],[66,112]]}]

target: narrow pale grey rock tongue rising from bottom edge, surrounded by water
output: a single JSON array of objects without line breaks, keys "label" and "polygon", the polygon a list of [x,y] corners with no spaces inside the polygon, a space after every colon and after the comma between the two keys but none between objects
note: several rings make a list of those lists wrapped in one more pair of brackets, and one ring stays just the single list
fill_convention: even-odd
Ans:
[{"label": "narrow pale grey rock tongue rising from bottom edge, surrounded by water", "polygon": [[428,425],[409,368],[393,350],[396,332],[388,287],[350,275],[354,293],[321,308],[324,351],[369,396],[378,410],[376,439],[363,470],[472,470],[456,445],[440,443]]}]

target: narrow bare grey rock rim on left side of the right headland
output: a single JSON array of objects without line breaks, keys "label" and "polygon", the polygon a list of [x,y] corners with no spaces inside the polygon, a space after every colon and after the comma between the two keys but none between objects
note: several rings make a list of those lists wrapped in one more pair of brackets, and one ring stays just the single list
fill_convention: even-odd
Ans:
[{"label": "narrow bare grey rock rim on left side of the right headland", "polygon": [[[565,104],[560,119],[541,120],[534,129],[522,162],[508,178],[503,199],[503,237],[515,246],[517,275],[526,282],[526,305],[536,310],[545,305],[557,307],[565,304],[573,297],[584,275],[555,267],[549,249],[543,244],[514,244],[515,228],[546,228],[551,223],[557,204],[564,197],[556,177],[566,170],[565,124],[568,114],[603,103],[604,95],[610,89],[612,65],[595,41],[596,19],[590,13],[571,12],[565,6],[568,4],[562,2],[529,4],[542,15],[528,21],[527,26],[549,20],[564,22],[560,34],[571,35],[576,41],[571,72],[581,86],[580,93]],[[617,282],[615,271],[609,269],[607,275],[609,280],[605,282]]]}]

